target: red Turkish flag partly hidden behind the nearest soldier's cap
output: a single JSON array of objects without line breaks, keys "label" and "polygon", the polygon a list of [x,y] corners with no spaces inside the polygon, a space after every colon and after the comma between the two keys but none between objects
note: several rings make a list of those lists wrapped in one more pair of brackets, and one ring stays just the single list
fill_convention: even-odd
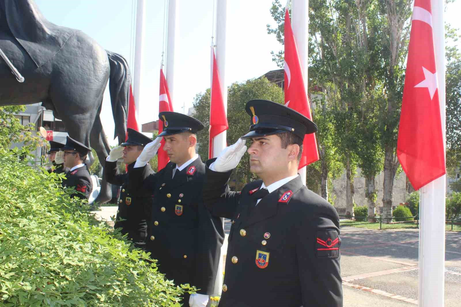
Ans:
[{"label": "red Turkish flag partly hidden behind the nearest soldier's cap", "polygon": [[[285,106],[300,112],[312,120],[311,108],[307,100],[306,88],[302,77],[301,62],[296,48],[295,35],[291,29],[290,14],[285,9]],[[307,39],[307,37],[306,37]],[[304,136],[299,169],[319,160],[319,150],[315,133]]]}]

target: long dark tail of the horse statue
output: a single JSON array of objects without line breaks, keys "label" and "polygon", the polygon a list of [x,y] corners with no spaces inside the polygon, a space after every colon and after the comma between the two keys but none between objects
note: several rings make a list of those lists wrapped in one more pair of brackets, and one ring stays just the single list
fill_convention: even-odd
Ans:
[{"label": "long dark tail of the horse statue", "polygon": [[109,93],[111,94],[112,115],[114,117],[114,138],[118,143],[125,141],[127,106],[130,99],[131,74],[126,59],[118,53],[106,50],[110,64]]}]

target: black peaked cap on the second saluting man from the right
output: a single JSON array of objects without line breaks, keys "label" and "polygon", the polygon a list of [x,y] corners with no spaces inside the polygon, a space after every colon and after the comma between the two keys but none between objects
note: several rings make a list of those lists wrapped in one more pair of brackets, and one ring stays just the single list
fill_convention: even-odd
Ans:
[{"label": "black peaked cap on the second saluting man from the right", "polygon": [[160,120],[163,121],[163,131],[159,136],[172,136],[182,132],[197,133],[204,128],[201,121],[177,112],[160,112]]}]

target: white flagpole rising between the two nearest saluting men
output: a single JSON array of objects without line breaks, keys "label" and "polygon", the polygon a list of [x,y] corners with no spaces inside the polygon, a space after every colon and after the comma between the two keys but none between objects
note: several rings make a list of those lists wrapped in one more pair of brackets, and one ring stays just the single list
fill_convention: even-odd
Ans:
[{"label": "white flagpole rising between the two nearest saluting men", "polygon": [[[223,96],[224,112],[227,116],[227,86],[225,82],[225,71],[226,71],[226,20],[227,20],[227,0],[216,0],[216,64],[219,69],[219,80],[221,81],[221,93]],[[213,60],[212,60],[213,61]],[[213,64],[213,62],[212,62]],[[212,79],[213,79],[213,71]],[[213,138],[213,157],[217,157],[218,154],[226,147],[226,131],[224,130],[219,135]],[[224,226],[224,219],[223,226]],[[218,274],[216,276],[216,282],[214,286],[215,294],[220,294],[223,284],[223,261],[222,255],[227,253],[223,245],[221,248],[221,259],[218,266]]]}]

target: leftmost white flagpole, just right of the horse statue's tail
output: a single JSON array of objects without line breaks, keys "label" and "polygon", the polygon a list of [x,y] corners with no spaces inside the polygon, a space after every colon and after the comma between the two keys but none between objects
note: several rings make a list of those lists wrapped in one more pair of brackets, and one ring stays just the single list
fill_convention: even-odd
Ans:
[{"label": "leftmost white flagpole, just right of the horse statue's tail", "polygon": [[[141,102],[141,71],[142,71],[142,36],[144,28],[144,0],[138,0],[136,8],[136,40],[135,40],[135,76],[134,91],[136,119],[139,122],[139,109]],[[139,130],[139,127],[138,127]]]}]

